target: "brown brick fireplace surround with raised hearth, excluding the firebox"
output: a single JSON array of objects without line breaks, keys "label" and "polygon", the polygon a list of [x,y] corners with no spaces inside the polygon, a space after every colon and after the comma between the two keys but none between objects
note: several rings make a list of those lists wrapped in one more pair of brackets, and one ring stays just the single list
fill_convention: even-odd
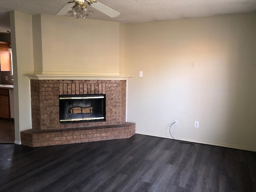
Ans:
[{"label": "brown brick fireplace surround with raised hearth, excluding the firebox", "polygon": [[[22,144],[49,146],[129,138],[135,124],[126,122],[126,80],[31,79],[32,129]],[[106,94],[105,122],[60,123],[59,95]]]}]

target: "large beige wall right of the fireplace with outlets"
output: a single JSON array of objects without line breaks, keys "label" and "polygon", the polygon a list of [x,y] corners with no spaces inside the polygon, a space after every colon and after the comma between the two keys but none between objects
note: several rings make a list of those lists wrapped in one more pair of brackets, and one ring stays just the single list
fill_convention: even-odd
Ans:
[{"label": "large beige wall right of the fireplace with outlets", "polygon": [[255,21],[242,14],[126,24],[124,72],[134,76],[127,118],[136,131],[170,137],[178,119],[175,138],[256,150]]}]

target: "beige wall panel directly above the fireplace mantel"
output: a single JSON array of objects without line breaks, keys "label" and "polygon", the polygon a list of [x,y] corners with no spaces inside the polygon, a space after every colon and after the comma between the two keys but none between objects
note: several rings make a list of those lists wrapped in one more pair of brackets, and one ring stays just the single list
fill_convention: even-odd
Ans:
[{"label": "beige wall panel directly above the fireplace mantel", "polygon": [[43,72],[119,73],[119,25],[41,15]]}]

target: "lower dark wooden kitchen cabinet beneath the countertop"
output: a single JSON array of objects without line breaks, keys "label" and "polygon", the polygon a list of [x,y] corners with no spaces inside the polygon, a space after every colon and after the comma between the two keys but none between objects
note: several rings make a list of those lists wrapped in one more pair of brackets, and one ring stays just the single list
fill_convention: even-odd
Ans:
[{"label": "lower dark wooden kitchen cabinet beneath the countertop", "polygon": [[10,102],[8,89],[0,89],[0,118],[10,119]]}]

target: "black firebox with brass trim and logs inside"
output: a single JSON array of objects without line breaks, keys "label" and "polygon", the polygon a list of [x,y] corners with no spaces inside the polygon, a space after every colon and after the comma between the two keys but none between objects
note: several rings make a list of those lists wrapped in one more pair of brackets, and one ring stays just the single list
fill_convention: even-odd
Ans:
[{"label": "black firebox with brass trim and logs inside", "polygon": [[60,123],[106,121],[106,95],[60,95]]}]

